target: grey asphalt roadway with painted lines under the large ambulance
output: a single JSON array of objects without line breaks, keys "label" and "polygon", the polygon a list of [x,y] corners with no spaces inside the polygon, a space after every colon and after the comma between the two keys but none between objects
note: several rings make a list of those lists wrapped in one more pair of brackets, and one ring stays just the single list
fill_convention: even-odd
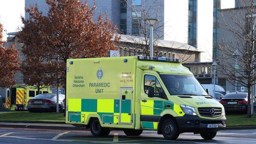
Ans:
[{"label": "grey asphalt roadway with painted lines under the large ambulance", "polygon": [[122,131],[111,131],[108,137],[95,137],[84,130],[44,130],[0,127],[0,143],[56,144],[56,143],[105,143],[105,144],[256,144],[256,130],[223,130],[211,141],[192,133],[180,134],[176,141],[166,141],[155,131],[144,131],[140,136],[128,137]]}]

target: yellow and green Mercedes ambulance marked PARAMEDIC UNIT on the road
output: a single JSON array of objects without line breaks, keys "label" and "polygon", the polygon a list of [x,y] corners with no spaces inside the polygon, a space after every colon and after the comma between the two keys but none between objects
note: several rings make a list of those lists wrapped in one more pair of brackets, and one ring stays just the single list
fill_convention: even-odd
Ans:
[{"label": "yellow and green Mercedes ambulance marked PARAMEDIC UNIT on the road", "polygon": [[226,127],[224,107],[172,58],[68,59],[66,114],[96,136],[157,130],[168,140],[183,132],[212,139]]}]

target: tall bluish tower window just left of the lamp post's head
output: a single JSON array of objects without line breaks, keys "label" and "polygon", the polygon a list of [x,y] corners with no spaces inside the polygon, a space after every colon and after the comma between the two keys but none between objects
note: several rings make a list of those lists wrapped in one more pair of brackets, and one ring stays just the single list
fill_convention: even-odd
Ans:
[{"label": "tall bluish tower window just left of the lamp post's head", "polygon": [[132,20],[131,20],[131,33],[132,35],[138,35],[141,28],[141,14],[140,12],[132,12]]}]

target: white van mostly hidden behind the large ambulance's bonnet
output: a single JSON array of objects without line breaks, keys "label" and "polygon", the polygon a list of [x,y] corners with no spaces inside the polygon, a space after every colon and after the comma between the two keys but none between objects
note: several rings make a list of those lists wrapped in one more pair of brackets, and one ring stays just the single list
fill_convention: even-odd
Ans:
[{"label": "white van mostly hidden behind the large ambulance's bonnet", "polygon": [[203,88],[209,90],[209,95],[214,98],[216,101],[220,101],[221,98],[226,94],[223,87],[215,84],[215,97],[214,97],[214,84],[202,84]]}]

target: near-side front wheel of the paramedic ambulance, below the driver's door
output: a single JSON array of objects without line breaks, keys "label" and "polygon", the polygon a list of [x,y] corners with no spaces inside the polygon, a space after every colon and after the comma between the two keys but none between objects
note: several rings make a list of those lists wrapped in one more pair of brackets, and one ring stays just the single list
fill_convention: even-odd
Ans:
[{"label": "near-side front wheel of the paramedic ambulance, below the driver's door", "polygon": [[172,119],[166,119],[162,124],[162,132],[167,140],[175,140],[179,137],[180,131],[177,124]]}]

